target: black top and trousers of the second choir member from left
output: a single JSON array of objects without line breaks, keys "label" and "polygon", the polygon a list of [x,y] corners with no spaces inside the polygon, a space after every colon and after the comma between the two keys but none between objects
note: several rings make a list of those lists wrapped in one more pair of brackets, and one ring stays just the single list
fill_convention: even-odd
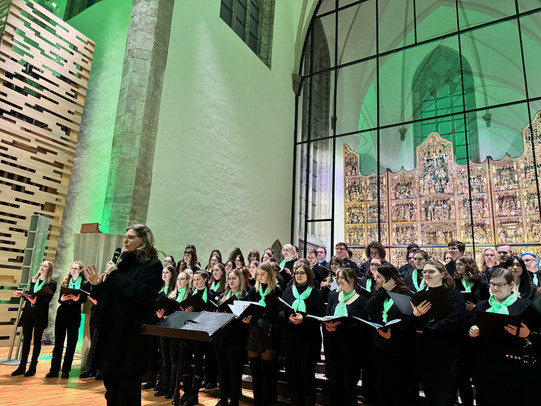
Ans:
[{"label": "black top and trousers of the second choir member from left", "polygon": [[[81,281],[80,289],[89,292],[91,289],[90,283],[85,280]],[[75,347],[77,346],[77,339],[79,338],[79,327],[81,326],[81,305],[86,303],[86,299],[87,294],[83,292],[81,292],[79,300],[77,301],[66,300],[63,302],[61,298],[58,298],[60,306],[58,306],[56,311],[56,319],[54,322],[55,343],[50,370],[50,373],[53,375],[58,374],[60,371],[66,335],[68,341],[66,344],[66,353],[64,354],[64,363],[62,364],[62,372],[69,373],[71,371],[73,355],[75,354]]]}]

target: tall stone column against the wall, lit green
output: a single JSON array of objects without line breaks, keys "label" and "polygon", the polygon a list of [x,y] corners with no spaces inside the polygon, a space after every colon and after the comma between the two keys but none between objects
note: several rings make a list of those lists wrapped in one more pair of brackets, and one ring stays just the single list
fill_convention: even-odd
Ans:
[{"label": "tall stone column against the wall, lit green", "polygon": [[147,217],[174,0],[134,0],[103,211],[106,232]]}]

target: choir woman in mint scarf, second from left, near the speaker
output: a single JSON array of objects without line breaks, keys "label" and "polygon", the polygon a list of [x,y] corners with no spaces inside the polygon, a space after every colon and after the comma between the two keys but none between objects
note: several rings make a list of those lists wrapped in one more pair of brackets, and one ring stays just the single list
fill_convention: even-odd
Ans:
[{"label": "choir woman in mint scarf, second from left, near the speaker", "polygon": [[62,364],[62,378],[69,378],[77,339],[79,338],[79,327],[81,326],[81,305],[86,303],[87,294],[90,293],[90,283],[84,276],[84,266],[81,261],[71,264],[70,271],[60,285],[62,288],[78,289],[78,295],[61,295],[58,299],[60,306],[56,311],[54,322],[55,343],[51,369],[46,378],[56,378],[60,371],[62,352],[64,351],[64,340],[67,335],[66,353]]}]

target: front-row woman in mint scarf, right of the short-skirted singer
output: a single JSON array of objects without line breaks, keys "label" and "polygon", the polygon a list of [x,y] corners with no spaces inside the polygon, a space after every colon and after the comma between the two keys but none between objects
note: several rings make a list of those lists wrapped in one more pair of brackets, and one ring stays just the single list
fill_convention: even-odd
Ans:
[{"label": "front-row woman in mint scarf, right of the short-skirted singer", "polygon": [[282,349],[286,358],[291,405],[312,406],[316,403],[316,364],[321,351],[319,322],[307,314],[323,316],[325,305],[319,289],[315,289],[314,271],[297,261],[293,267],[294,283],[282,299],[295,313],[281,311]]}]

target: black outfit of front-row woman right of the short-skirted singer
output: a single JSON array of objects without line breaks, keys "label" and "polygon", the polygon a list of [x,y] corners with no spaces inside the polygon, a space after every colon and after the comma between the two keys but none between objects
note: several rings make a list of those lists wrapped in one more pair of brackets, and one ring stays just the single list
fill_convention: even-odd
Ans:
[{"label": "black outfit of front-row woman right of the short-skirted singer", "polygon": [[[307,286],[297,286],[302,294]],[[292,305],[295,302],[293,288],[287,288],[282,299]],[[304,300],[306,314],[323,316],[325,305],[321,292],[312,288],[310,295]],[[320,359],[321,331],[319,321],[306,317],[300,324],[289,321],[283,311],[279,314],[281,322],[281,343],[286,358],[286,374],[289,383],[289,396],[292,405],[315,405],[316,402],[316,364]]]}]

